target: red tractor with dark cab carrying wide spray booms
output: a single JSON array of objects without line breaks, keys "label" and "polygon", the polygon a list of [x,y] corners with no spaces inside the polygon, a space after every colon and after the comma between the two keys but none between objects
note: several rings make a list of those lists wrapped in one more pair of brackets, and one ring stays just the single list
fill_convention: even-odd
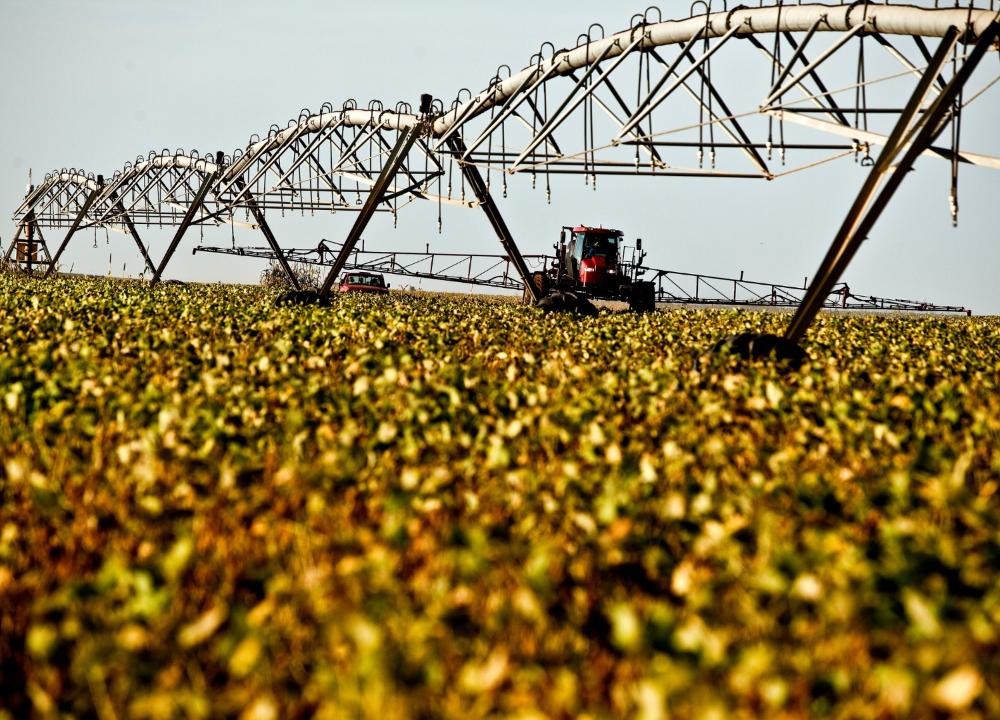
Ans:
[{"label": "red tractor with dark cab carrying wide spray booms", "polygon": [[620,300],[636,312],[653,310],[656,288],[652,282],[639,279],[645,272],[642,240],[636,240],[632,257],[626,261],[623,239],[621,230],[563,227],[554,246],[555,263],[532,275],[532,282],[541,291],[539,307],[592,313],[596,309],[590,300]]}]

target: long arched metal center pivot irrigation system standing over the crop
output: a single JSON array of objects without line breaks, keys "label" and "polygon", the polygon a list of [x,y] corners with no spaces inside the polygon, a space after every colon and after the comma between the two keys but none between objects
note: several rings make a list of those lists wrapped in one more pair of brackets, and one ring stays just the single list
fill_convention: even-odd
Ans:
[{"label": "long arched metal center pivot irrigation system standing over the crop", "polygon": [[[784,338],[797,347],[831,298],[856,300],[837,282],[920,156],[950,164],[956,221],[960,166],[1000,169],[1000,158],[966,150],[961,133],[963,116],[1000,80],[997,63],[983,62],[1000,57],[1000,8],[995,0],[939,4],[729,8],[697,0],[679,19],[650,8],[614,34],[591,25],[571,49],[545,43],[523,70],[503,65],[484,90],[463,90],[447,105],[426,95],[416,112],[403,102],[325,104],[230,155],[165,149],[107,177],[51,173],[15,211],[5,258],[52,274],[79,231],[104,228],[132,238],[155,283],[192,227],[242,225],[260,230],[264,252],[300,289],[289,263],[304,251],[282,249],[268,218],[356,213],[321,258],[326,296],[352,258],[363,266],[357,245],[376,212],[395,218],[425,201],[437,204],[439,226],[445,204],[480,208],[502,246],[493,258],[508,264],[499,282],[537,302],[542,288],[528,263],[545,259],[522,255],[493,195],[499,185],[506,197],[513,176],[529,176],[551,197],[559,175],[581,176],[593,189],[599,177],[616,175],[770,181],[853,158],[864,182],[812,283],[800,293],[778,285],[758,293],[797,305]],[[175,229],[158,262],[140,226]],[[43,231],[57,228],[65,233],[53,252]],[[400,253],[383,254],[405,267]],[[652,270],[658,299],[690,295],[671,289],[681,274]],[[698,300],[703,282],[734,282],[735,295],[743,282],[691,277]]]}]

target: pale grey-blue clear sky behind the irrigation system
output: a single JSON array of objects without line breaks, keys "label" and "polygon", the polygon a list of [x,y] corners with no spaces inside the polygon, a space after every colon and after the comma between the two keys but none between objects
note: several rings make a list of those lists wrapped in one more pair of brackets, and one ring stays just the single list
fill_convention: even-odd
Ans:
[{"label": "pale grey-blue clear sky behind the irrigation system", "polygon": [[[231,152],[325,101],[416,105],[424,92],[450,101],[459,88],[484,88],[502,63],[524,67],[545,41],[572,47],[595,22],[609,34],[625,29],[645,7],[598,0],[0,0],[0,239],[6,245],[13,233],[10,216],[29,168],[36,181],[63,167],[110,176],[153,149]],[[689,12],[687,2],[661,7],[665,18]],[[996,60],[994,53],[984,62]],[[1000,155],[997,90],[963,120],[969,150]],[[526,254],[550,251],[562,225],[604,225],[643,238],[653,267],[742,271],[750,280],[796,284],[817,269],[863,180],[850,160],[775,182],[602,179],[595,192],[567,177],[555,183],[548,204],[517,178],[498,203]],[[918,162],[848,268],[843,279],[852,290],[1000,314],[1000,171],[962,167],[957,229],[948,187],[948,163]],[[344,214],[272,221],[288,247],[336,240],[349,224]],[[169,239],[157,231],[143,237],[154,257]],[[192,255],[199,241],[228,244],[230,230],[192,232],[167,276],[258,278],[260,261]],[[236,241],[263,244],[247,231]],[[379,249],[500,252],[480,212],[446,207],[439,234],[430,203],[402,213],[395,229],[390,218],[376,217],[365,241]],[[139,272],[134,247],[120,236],[102,249],[105,242],[103,235],[75,238],[63,265]]]}]

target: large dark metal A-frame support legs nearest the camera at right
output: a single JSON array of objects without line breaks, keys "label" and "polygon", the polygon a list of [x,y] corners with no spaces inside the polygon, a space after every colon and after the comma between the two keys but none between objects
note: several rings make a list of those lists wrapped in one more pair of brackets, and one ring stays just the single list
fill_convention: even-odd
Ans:
[{"label": "large dark metal A-frame support legs nearest the camera at right", "polygon": [[[899,189],[916,159],[930,147],[944,130],[958,94],[976,69],[979,61],[1000,37],[1000,23],[991,23],[979,36],[965,63],[941,90],[930,108],[920,115],[924,98],[947,61],[948,54],[958,40],[958,36],[958,29],[951,27],[942,38],[937,52],[921,76],[913,95],[896,123],[896,127],[893,128],[882,153],[875,161],[875,165],[869,172],[865,184],[844,219],[840,231],[820,264],[812,285],[799,304],[795,316],[785,331],[785,339],[798,343],[805,335],[809,325],[816,318],[816,314],[823,307],[823,301],[830,294],[831,288],[847,269],[861,243],[871,232],[875,222],[885,210],[893,194]],[[918,115],[920,117],[914,123],[914,118],[917,118]],[[911,123],[914,123],[912,128],[910,127]],[[907,144],[909,147],[902,159],[893,164]],[[885,181],[885,185],[881,192],[878,192],[883,181]]]}]

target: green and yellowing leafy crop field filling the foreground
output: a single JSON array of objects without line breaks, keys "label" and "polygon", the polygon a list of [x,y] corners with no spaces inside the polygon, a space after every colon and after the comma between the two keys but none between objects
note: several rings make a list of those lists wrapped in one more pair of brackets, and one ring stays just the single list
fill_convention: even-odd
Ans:
[{"label": "green and yellowing leafy crop field filling the foreground", "polygon": [[272,301],[0,276],[9,717],[1000,716],[1000,320]]}]

